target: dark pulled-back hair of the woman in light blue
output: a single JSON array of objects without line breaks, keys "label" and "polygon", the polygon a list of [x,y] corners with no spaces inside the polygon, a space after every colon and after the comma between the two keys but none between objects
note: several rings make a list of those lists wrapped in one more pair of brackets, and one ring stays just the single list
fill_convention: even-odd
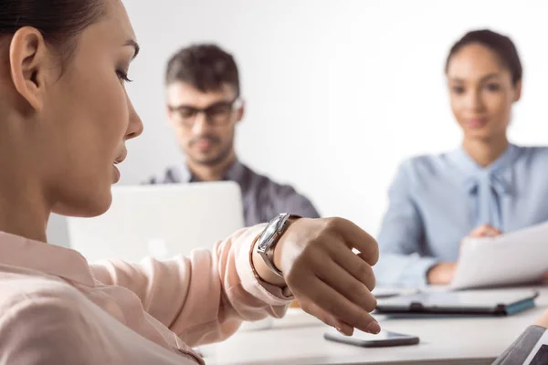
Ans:
[{"label": "dark pulled-back hair of the woman in light blue", "polygon": [[518,55],[518,50],[508,36],[502,36],[499,33],[489,29],[474,30],[458,40],[457,43],[449,51],[448,60],[446,62],[446,73],[449,67],[449,61],[462,47],[472,43],[478,43],[481,46],[490,48],[499,56],[502,64],[511,72],[511,79],[514,85],[522,79],[523,69],[522,61]]}]

